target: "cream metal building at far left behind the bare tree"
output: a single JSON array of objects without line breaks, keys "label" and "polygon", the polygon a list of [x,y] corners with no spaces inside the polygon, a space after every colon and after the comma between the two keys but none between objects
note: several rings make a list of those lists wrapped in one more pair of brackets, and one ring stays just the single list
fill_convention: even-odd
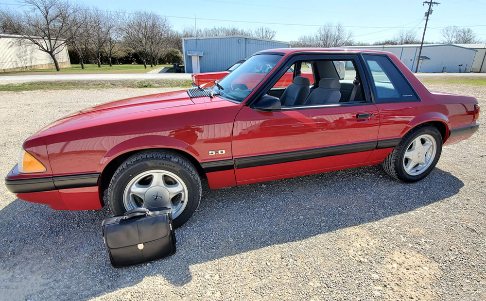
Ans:
[{"label": "cream metal building at far left behind the bare tree", "polygon": [[[56,57],[61,68],[71,67],[67,48],[62,49]],[[22,40],[19,35],[0,34],[0,72],[54,67],[49,53]]]}]

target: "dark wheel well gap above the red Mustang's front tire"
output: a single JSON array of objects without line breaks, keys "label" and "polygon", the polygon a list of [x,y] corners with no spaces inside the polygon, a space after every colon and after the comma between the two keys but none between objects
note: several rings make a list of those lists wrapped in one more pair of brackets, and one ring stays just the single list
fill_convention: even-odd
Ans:
[{"label": "dark wheel well gap above the red Mustang's front tire", "polygon": [[179,150],[174,150],[174,149],[164,149],[164,148],[128,151],[128,152],[122,153],[118,157],[111,160],[110,163],[108,163],[106,165],[106,167],[104,167],[103,171],[101,172],[100,184],[99,184],[99,187],[100,187],[99,193],[100,193],[100,200],[102,201],[102,205],[104,205],[104,190],[106,188],[108,188],[108,185],[110,184],[111,178],[115,174],[115,171],[117,170],[117,168],[121,165],[121,163],[123,163],[123,161],[125,161],[126,159],[128,159],[132,155],[139,153],[139,152],[144,152],[144,151],[169,151],[169,152],[174,152],[174,153],[180,155],[181,157],[188,159],[192,163],[192,165],[196,168],[197,173],[199,174],[199,176],[201,178],[206,177],[206,173],[204,172],[203,167],[201,167],[201,164],[199,164],[199,162],[194,157],[192,157],[191,155],[189,155],[188,153],[186,153],[184,151],[179,151]]}]

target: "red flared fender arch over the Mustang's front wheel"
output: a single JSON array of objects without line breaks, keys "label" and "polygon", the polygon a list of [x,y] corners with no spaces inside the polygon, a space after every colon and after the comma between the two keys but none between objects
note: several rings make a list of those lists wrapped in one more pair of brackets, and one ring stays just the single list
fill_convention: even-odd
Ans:
[{"label": "red flared fender arch over the Mustang's front wheel", "polygon": [[155,148],[184,151],[186,153],[189,153],[194,158],[197,158],[199,156],[199,153],[187,142],[176,139],[174,137],[147,135],[125,140],[115,145],[104,154],[103,158],[100,161],[100,165],[105,167],[114,158],[130,151],[140,151]]}]

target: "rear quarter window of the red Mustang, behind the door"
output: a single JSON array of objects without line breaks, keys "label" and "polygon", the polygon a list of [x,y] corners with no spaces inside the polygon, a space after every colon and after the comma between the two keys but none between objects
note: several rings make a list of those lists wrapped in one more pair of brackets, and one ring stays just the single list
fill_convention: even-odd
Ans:
[{"label": "rear quarter window of the red Mustang, behind the door", "polygon": [[372,78],[376,101],[417,100],[410,85],[387,57],[367,54],[363,57]]}]

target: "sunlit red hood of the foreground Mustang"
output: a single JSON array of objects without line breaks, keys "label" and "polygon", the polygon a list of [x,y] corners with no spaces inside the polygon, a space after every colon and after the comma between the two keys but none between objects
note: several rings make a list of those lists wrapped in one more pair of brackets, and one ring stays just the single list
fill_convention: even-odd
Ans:
[{"label": "sunlit red hood of the foreground Mustang", "polygon": [[[190,107],[194,102],[186,90],[139,96],[103,103],[62,117],[38,131],[34,136],[44,136],[73,131],[134,118],[139,115],[151,116],[175,107]],[[190,109],[181,109],[188,111]],[[156,113],[152,113],[156,112]],[[163,114],[163,113],[162,113]]]}]

